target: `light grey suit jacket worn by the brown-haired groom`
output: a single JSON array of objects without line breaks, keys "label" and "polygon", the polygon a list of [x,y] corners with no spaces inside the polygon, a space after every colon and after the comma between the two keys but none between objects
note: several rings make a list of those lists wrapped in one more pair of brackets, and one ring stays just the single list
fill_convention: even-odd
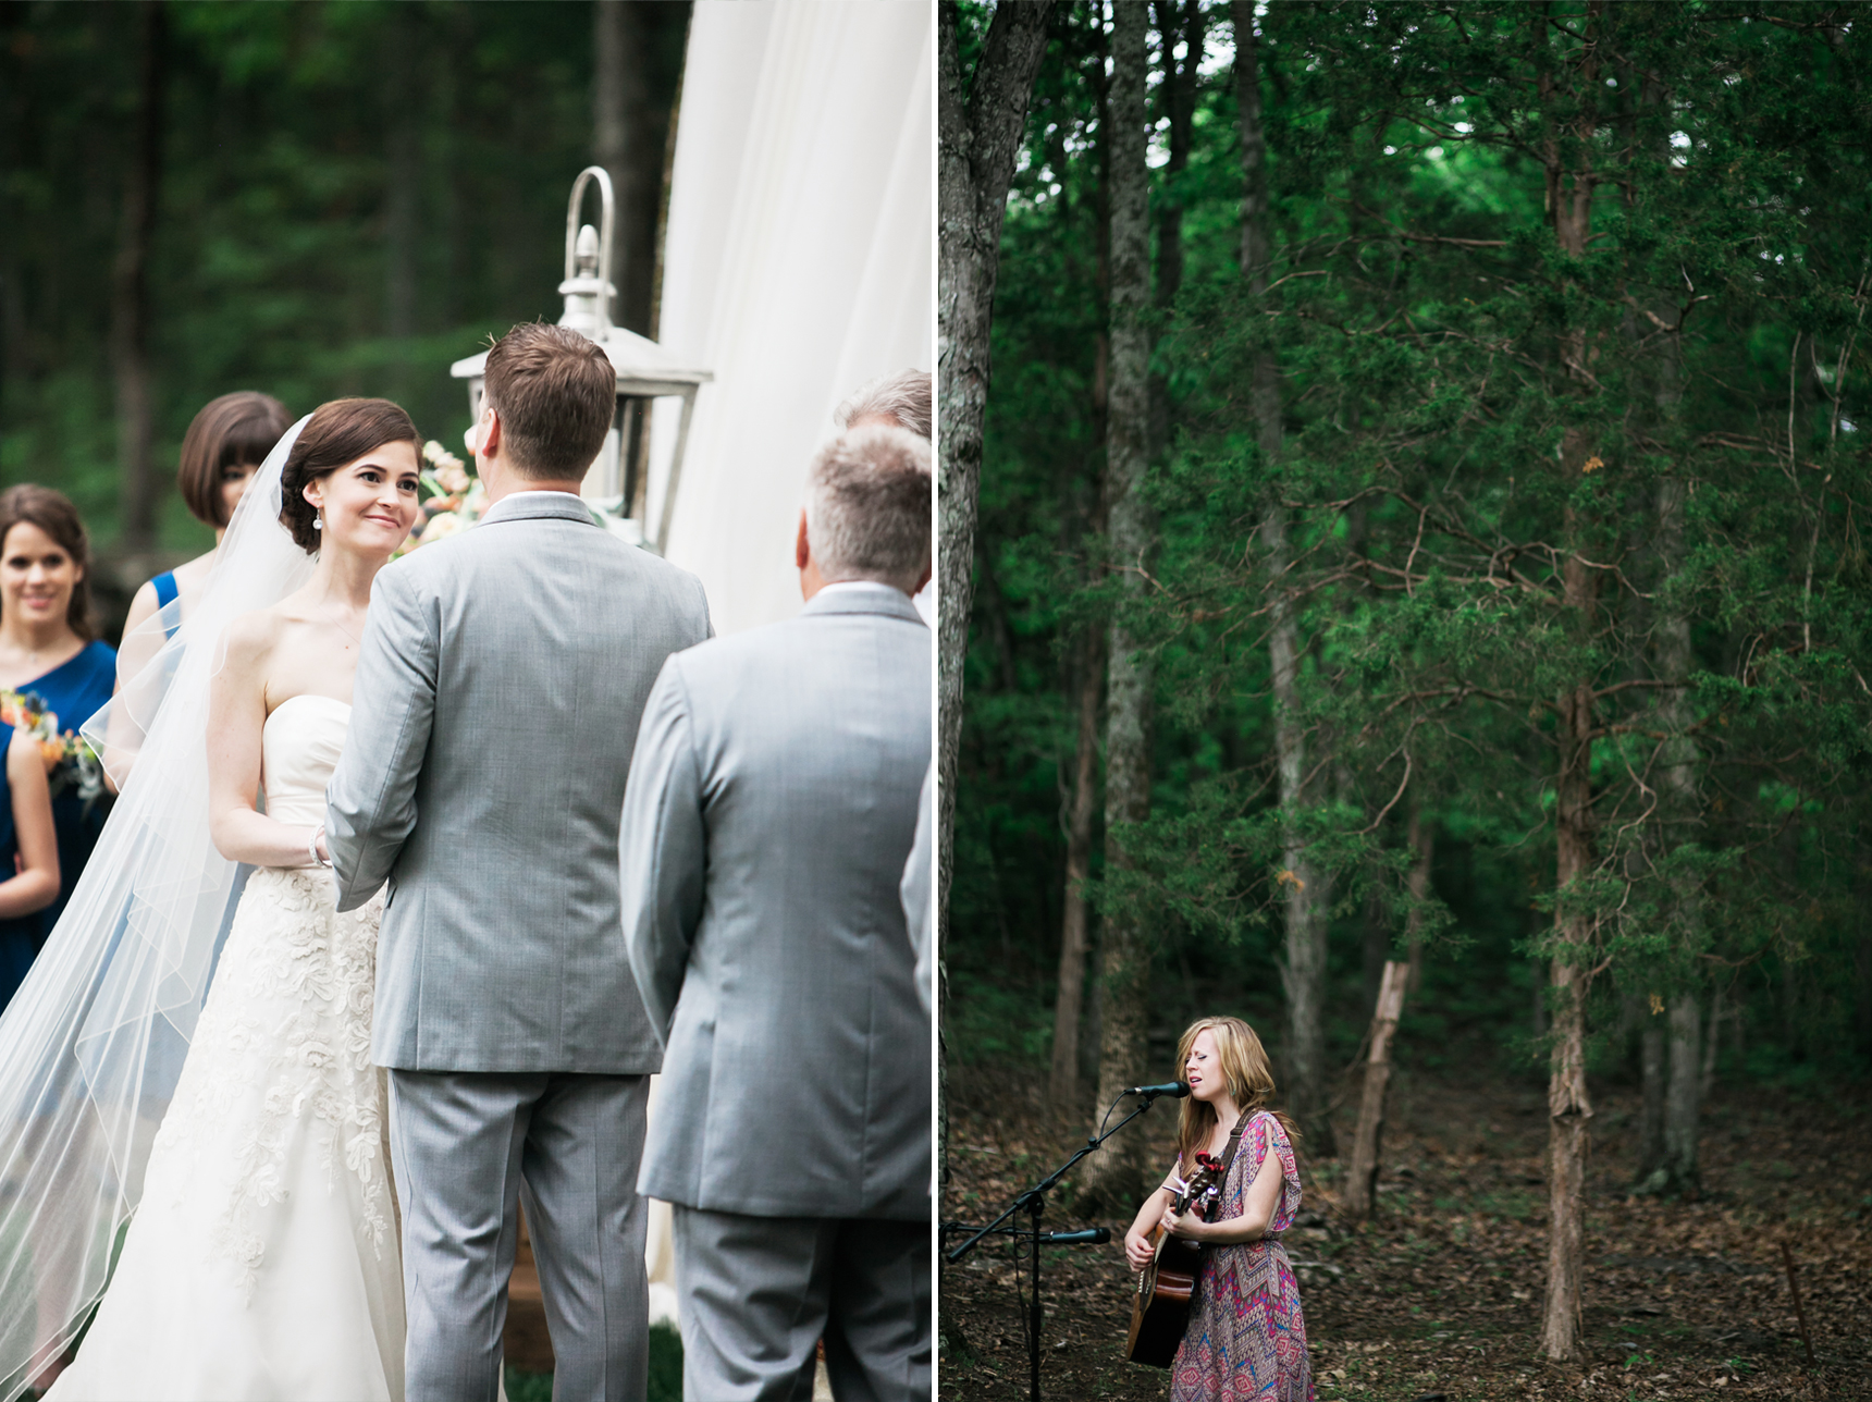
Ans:
[{"label": "light grey suit jacket worn by the brown-haired groom", "polygon": [[326,792],[339,910],[389,882],[378,1065],[657,1069],[618,942],[618,809],[657,672],[708,635],[702,584],[567,492],[378,573]]}]

